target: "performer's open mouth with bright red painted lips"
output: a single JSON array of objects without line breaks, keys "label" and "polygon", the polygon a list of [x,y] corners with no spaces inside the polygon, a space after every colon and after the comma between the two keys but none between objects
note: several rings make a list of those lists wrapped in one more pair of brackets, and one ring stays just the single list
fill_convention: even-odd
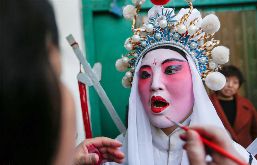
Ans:
[{"label": "performer's open mouth with bright red painted lips", "polygon": [[161,96],[152,96],[151,98],[151,109],[154,113],[160,113],[166,109],[169,104]]}]

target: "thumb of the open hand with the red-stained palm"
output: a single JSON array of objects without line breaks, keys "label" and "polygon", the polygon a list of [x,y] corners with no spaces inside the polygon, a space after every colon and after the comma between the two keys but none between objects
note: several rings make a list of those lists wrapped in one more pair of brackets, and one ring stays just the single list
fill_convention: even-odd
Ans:
[{"label": "thumb of the open hand with the red-stained palm", "polygon": [[95,153],[92,154],[85,154],[76,158],[77,165],[90,165],[96,164],[99,161],[99,156]]}]

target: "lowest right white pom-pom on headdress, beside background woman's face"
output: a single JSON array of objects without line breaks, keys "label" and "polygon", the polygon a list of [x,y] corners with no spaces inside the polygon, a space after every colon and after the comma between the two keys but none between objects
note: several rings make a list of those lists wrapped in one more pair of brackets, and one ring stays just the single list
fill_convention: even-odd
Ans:
[{"label": "lowest right white pom-pom on headdress, beside background woman's face", "polygon": [[205,84],[211,90],[220,90],[226,84],[226,77],[220,72],[211,72],[205,77]]}]

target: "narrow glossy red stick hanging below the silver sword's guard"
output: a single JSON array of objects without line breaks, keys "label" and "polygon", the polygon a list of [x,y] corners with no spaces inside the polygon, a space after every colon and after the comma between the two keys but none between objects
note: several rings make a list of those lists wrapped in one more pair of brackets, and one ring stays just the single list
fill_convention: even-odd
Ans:
[{"label": "narrow glossy red stick hanging below the silver sword's guard", "polygon": [[85,134],[86,138],[93,138],[91,126],[90,126],[90,118],[88,113],[88,107],[87,107],[87,92],[86,92],[86,85],[79,82],[79,94],[80,94],[80,102],[81,102],[81,109],[82,109],[82,115],[83,115],[83,121],[84,121],[84,127],[85,127]]}]

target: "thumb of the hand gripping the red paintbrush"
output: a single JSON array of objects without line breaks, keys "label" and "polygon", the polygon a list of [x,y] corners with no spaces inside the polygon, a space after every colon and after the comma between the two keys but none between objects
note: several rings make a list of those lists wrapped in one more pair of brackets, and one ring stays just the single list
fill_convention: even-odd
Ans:
[{"label": "thumb of the hand gripping the red paintbrush", "polygon": [[195,130],[188,130],[185,149],[190,165],[206,165],[204,144]]}]

